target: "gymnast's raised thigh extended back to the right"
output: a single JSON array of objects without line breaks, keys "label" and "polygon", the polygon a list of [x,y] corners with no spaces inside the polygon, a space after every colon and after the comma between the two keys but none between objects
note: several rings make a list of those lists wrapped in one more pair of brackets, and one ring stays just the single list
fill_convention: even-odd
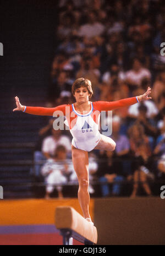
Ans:
[{"label": "gymnast's raised thigh extended back to the right", "polygon": [[97,146],[95,146],[95,149],[100,149],[100,150],[109,150],[113,151],[116,147],[116,143],[114,142],[113,139],[100,134],[100,141],[98,142]]}]

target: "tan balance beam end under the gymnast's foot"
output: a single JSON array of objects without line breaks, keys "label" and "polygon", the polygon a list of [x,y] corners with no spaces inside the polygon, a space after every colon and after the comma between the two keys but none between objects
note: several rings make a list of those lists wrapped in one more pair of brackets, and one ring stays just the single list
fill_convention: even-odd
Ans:
[{"label": "tan balance beam end under the gymnast's foot", "polygon": [[63,244],[72,245],[73,238],[84,244],[97,243],[97,229],[70,206],[58,206],[55,225],[61,231]]}]

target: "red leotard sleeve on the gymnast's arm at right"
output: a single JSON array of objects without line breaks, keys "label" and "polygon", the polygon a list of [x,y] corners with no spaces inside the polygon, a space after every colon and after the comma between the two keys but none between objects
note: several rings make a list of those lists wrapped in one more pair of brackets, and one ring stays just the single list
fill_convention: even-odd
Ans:
[{"label": "red leotard sleeve on the gymnast's arm at right", "polygon": [[98,111],[108,111],[108,110],[115,110],[116,108],[130,106],[138,101],[136,100],[136,97],[130,97],[123,100],[117,100],[117,101],[95,101],[93,102],[93,106],[95,110]]}]

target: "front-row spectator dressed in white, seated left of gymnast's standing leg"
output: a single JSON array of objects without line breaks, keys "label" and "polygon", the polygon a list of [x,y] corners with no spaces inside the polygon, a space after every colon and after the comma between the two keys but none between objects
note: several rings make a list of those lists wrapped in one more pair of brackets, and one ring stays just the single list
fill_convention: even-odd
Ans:
[{"label": "front-row spectator dressed in white, seated left of gymnast's standing leg", "polygon": [[72,162],[67,161],[67,150],[65,146],[58,145],[55,154],[41,168],[41,173],[46,181],[45,198],[50,198],[50,194],[54,188],[57,189],[58,198],[63,198],[62,185],[67,183],[73,171]]}]

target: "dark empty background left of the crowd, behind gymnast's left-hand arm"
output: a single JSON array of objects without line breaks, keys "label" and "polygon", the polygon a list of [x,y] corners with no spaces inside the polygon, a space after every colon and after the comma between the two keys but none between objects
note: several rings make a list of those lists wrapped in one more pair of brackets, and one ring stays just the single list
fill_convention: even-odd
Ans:
[{"label": "dark empty background left of the crowd, behind gymnast's left-hand arm", "polygon": [[[38,130],[48,119],[12,112],[14,97],[18,96],[23,105],[45,106],[57,43],[57,20],[57,1],[7,0],[0,3],[0,42],[3,43],[3,56],[0,56],[1,186],[11,184],[13,188],[14,182],[31,182],[27,164],[32,161],[33,152],[28,143],[35,145]],[[14,191],[7,194],[7,189],[4,187],[4,198],[17,197]],[[29,195],[25,195],[31,197],[28,189]]]}]

